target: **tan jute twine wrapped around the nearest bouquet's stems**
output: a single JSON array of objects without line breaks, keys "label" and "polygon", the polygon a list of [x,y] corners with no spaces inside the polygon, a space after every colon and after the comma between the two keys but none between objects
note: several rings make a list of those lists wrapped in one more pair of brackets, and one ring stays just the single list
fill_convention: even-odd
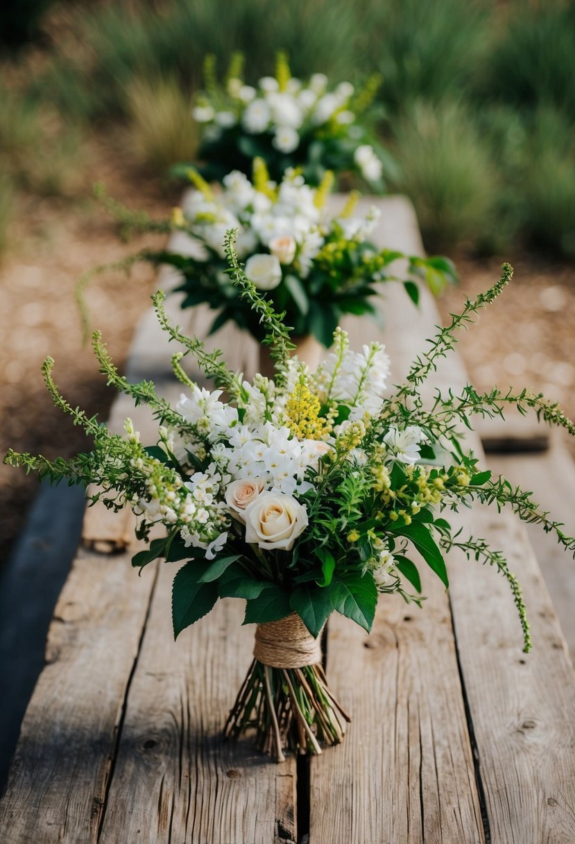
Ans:
[{"label": "tan jute twine wrapped around the nearest bouquet's stems", "polygon": [[254,656],[271,668],[304,668],[321,662],[321,635],[314,639],[297,613],[255,628]]}]

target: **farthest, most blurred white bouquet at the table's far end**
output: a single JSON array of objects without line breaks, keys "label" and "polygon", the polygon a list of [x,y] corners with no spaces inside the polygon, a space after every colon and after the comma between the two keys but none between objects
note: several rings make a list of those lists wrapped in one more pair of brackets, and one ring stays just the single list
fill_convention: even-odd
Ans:
[{"label": "farthest, most blurred white bouquet at the table's far end", "polygon": [[[213,57],[205,62],[205,89],[192,111],[202,138],[203,176],[222,181],[229,170],[249,174],[252,159],[261,156],[276,180],[288,167],[301,166],[311,185],[320,183],[325,170],[334,170],[338,176],[358,176],[372,192],[384,189],[384,175],[395,167],[374,138],[378,77],[358,91],[349,82],[331,87],[323,73],[304,82],[292,76],[279,53],[276,75],[253,87],[242,78],[243,63],[236,54],[220,84]],[[181,165],[175,168],[176,174],[184,171]]]}]

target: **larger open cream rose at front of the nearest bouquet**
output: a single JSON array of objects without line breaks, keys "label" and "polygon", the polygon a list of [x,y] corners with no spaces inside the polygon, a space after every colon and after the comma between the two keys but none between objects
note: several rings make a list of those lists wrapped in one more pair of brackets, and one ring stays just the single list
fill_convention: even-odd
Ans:
[{"label": "larger open cream rose at front of the nearest bouquet", "polygon": [[308,511],[291,495],[262,492],[244,511],[245,541],[289,551],[308,526]]}]

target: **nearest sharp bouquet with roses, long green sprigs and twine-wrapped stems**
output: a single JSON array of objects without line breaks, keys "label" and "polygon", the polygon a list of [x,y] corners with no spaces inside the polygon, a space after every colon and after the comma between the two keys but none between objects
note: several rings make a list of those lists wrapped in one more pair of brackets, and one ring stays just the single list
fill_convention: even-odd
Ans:
[{"label": "nearest sharp bouquet with roses, long green sprigs and twine-wrapped stems", "polygon": [[[276,361],[273,380],[256,375],[248,382],[229,371],[220,353],[208,354],[197,338],[186,338],[169,323],[163,295],[157,294],[159,322],[184,349],[173,358],[183,384],[175,407],[159,398],[152,382],[132,384],[120,376],[99,333],[94,335],[108,381],[153,408],[157,442],[142,444],[129,419],[126,436],[112,436],[72,408],[47,359],[43,371],[54,401],[84,426],[94,448],[68,462],[15,452],[5,460],[40,478],[99,484],[94,500],[116,510],[132,507],[139,538],[164,528],[133,565],[180,561],[173,587],[175,636],[219,598],[245,600],[245,623],[257,625],[255,658],[225,730],[235,737],[255,727],[258,746],[282,760],[287,746],[320,753],[321,744],[341,741],[349,716],[325,678],[321,632],[334,611],[370,630],[380,593],[399,592],[421,605],[421,563],[414,551],[445,587],[451,549],[495,566],[513,592],[529,650],[521,590],[506,560],[483,539],[452,529],[443,514],[473,501],[510,506],[555,532],[572,552],[575,540],[529,493],[478,466],[465,450],[459,423],[470,427],[473,414],[501,415],[515,404],[572,434],[575,427],[555,404],[526,390],[480,395],[465,387],[460,395],[436,394],[430,407],[423,403],[423,381],[453,348],[456,330],[507,284],[508,265],[492,289],[467,301],[430,342],[405,383],[390,391],[384,347],[352,350],[341,329],[334,334],[334,351],[316,371],[290,357],[288,329],[246,277],[233,236],[226,239],[231,277],[266,328]],[[213,392],[185,374],[185,354],[214,379]]]}]

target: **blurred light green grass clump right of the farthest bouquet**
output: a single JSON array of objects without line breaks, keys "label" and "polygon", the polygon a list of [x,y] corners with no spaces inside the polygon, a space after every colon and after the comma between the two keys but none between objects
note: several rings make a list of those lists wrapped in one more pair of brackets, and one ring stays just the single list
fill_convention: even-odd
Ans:
[{"label": "blurred light green grass clump right of the farthest bouquet", "polygon": [[453,102],[419,103],[395,126],[397,187],[411,197],[431,250],[477,246],[496,225],[498,181],[469,111]]}]

